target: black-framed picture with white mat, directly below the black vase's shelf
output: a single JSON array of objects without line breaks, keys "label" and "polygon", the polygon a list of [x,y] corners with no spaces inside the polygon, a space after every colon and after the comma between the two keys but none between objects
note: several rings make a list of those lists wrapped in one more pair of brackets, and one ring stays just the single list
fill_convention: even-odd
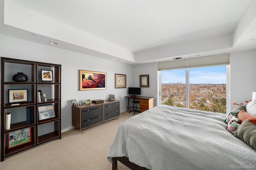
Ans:
[{"label": "black-framed picture with white mat, directly below the black vase's shelf", "polygon": [[28,89],[8,90],[9,103],[28,101]]}]

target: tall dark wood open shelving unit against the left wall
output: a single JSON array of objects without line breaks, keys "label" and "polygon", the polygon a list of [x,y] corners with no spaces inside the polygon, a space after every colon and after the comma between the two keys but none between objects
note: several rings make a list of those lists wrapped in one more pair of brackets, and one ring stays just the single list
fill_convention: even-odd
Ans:
[{"label": "tall dark wood open shelving unit against the left wall", "polygon": [[[42,81],[41,69],[51,70],[53,81]],[[24,72],[28,81],[13,81],[12,76],[17,72]],[[28,89],[27,101],[9,103],[11,95],[8,90],[16,89]],[[39,102],[38,90],[42,89],[46,92],[47,101]],[[1,161],[28,148],[61,139],[61,65],[1,57],[1,94]],[[39,120],[38,107],[46,105],[54,105],[55,117]],[[6,113],[11,113],[9,129],[6,129]],[[30,131],[30,135],[27,135],[30,141],[8,148],[8,141],[14,140],[14,135],[9,135],[25,132],[24,129]],[[28,138],[23,136],[24,139]]]}]

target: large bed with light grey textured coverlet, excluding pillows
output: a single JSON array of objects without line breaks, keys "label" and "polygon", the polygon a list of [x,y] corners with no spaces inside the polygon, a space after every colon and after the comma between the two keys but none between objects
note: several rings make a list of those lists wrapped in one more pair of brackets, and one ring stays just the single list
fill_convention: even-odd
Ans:
[{"label": "large bed with light grey textured coverlet, excluding pillows", "polygon": [[256,168],[256,150],[226,129],[226,117],[156,106],[120,125],[107,159],[113,169],[117,160],[131,169]]}]

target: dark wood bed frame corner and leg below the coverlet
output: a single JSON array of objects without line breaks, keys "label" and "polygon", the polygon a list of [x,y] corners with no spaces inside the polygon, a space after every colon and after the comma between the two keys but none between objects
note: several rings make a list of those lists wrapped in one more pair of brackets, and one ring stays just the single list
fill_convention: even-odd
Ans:
[{"label": "dark wood bed frame corner and leg below the coverlet", "polygon": [[128,168],[131,168],[132,170],[148,170],[147,168],[138,166],[132,162],[130,162],[129,158],[123,156],[123,157],[114,157],[112,158],[112,170],[117,170],[117,161],[121,162]]}]

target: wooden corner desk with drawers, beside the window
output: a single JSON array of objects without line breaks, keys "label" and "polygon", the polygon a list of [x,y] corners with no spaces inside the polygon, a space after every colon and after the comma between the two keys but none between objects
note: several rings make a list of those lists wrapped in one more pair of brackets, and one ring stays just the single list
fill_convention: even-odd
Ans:
[{"label": "wooden corner desk with drawers, beside the window", "polygon": [[[129,102],[131,99],[131,96],[126,96],[128,97],[128,103],[127,103],[127,111],[129,110]],[[144,112],[148,109],[151,109],[154,107],[154,99],[155,97],[144,97],[144,96],[137,96],[137,99],[140,99],[140,111]]]}]

